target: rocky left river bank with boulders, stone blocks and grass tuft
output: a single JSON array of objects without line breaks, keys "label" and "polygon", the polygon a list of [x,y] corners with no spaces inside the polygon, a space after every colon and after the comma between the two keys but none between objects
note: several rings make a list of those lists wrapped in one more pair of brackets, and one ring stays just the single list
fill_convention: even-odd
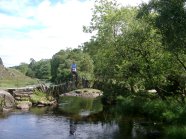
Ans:
[{"label": "rocky left river bank with boulders, stone blocks and grass tuft", "polygon": [[38,90],[17,89],[10,92],[0,90],[1,111],[10,111],[15,108],[28,110],[32,106],[44,107],[55,104],[54,97]]}]

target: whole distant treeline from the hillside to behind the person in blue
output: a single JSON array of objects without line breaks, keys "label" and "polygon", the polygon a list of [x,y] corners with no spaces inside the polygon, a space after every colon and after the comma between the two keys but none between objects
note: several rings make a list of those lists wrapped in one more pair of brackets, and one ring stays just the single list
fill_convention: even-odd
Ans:
[{"label": "whole distant treeline from the hillside to behind the person in blue", "polygon": [[93,79],[93,60],[81,49],[61,50],[54,54],[52,59],[35,61],[31,58],[30,64],[22,63],[14,68],[32,78],[51,79],[53,82],[59,83],[72,78],[70,67],[73,62],[77,64],[80,77],[86,77],[88,80]]}]

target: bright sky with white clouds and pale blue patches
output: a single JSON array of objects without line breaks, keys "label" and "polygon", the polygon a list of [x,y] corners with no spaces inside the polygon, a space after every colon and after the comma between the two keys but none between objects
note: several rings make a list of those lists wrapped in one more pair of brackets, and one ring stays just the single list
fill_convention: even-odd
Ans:
[{"label": "bright sky with white clouds and pale blue patches", "polygon": [[[77,48],[91,34],[95,0],[0,0],[0,57],[5,67],[50,59],[60,50]],[[148,0],[118,0],[137,6]]]}]

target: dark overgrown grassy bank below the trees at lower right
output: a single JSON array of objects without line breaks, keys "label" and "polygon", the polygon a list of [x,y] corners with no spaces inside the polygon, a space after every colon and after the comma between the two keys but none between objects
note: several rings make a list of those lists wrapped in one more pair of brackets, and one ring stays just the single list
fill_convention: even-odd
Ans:
[{"label": "dark overgrown grassy bank below the trees at lower right", "polygon": [[117,109],[124,114],[140,114],[151,120],[166,124],[186,124],[186,105],[175,98],[163,101],[159,98],[150,99],[142,96],[118,97]]}]

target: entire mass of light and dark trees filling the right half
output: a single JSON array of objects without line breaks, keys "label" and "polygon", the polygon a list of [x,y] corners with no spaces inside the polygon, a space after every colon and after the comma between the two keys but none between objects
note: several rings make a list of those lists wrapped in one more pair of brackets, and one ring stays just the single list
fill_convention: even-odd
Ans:
[{"label": "entire mass of light and dark trees filling the right half", "polygon": [[[116,1],[96,1],[90,26],[84,29],[97,34],[83,46],[94,61],[96,79],[123,84],[132,93],[156,89],[162,99],[172,95],[184,100],[183,3],[152,0],[138,9],[122,7]],[[104,94],[120,94],[115,92]]]}]

